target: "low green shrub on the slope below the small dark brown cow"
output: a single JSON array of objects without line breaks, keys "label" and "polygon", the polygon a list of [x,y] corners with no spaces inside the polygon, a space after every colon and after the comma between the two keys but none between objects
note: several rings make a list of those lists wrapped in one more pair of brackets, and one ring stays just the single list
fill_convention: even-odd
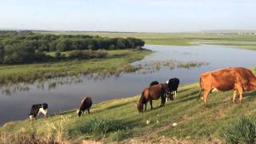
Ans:
[{"label": "low green shrub on the slope below the small dark brown cow", "polygon": [[90,118],[79,126],[83,134],[103,135],[118,130],[125,130],[126,126],[114,118]]}]

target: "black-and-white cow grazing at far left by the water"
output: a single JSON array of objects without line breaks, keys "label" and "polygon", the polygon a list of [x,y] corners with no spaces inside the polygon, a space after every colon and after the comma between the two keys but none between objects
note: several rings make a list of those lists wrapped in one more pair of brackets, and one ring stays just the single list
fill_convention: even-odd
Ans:
[{"label": "black-and-white cow grazing at far left by the water", "polygon": [[29,114],[30,120],[37,119],[37,115],[39,114],[44,114],[46,118],[47,110],[48,110],[47,103],[33,105],[31,107],[30,114]]}]

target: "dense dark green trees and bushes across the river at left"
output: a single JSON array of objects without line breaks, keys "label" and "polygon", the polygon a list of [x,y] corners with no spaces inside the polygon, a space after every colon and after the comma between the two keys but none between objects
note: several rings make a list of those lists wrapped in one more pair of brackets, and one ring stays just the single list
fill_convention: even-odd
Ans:
[{"label": "dense dark green trees and bushes across the river at left", "polygon": [[[0,64],[47,62],[66,58],[104,58],[107,54],[104,50],[136,49],[144,44],[138,38],[0,31]],[[68,53],[62,53],[66,51]],[[52,56],[47,54],[49,52],[56,53]]]}]

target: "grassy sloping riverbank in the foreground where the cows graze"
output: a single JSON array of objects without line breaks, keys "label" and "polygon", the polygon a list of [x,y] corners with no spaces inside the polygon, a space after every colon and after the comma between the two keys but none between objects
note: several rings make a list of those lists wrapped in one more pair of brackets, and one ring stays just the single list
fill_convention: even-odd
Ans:
[{"label": "grassy sloping riverbank in the foreground where the cows graze", "polygon": [[[154,101],[154,110],[143,114],[138,114],[135,106],[139,95],[114,99],[95,104],[91,114],[81,118],[76,110],[70,110],[34,122],[8,122],[0,128],[0,138],[18,140],[34,134],[43,141],[54,138],[62,142],[221,142],[226,126],[243,115],[256,114],[255,95],[255,91],[246,93],[242,104],[234,104],[230,101],[232,91],[213,93],[210,107],[206,108],[201,100],[197,101],[198,83],[194,83],[181,86],[178,98],[162,108],[158,107],[159,101]],[[177,126],[173,126],[174,122]]]}]

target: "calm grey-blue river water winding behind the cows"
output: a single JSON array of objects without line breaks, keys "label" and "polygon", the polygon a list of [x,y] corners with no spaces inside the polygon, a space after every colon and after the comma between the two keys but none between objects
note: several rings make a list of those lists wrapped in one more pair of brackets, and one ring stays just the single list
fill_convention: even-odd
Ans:
[{"label": "calm grey-blue river water winding behind the cows", "polygon": [[166,82],[167,79],[177,77],[181,85],[198,82],[198,75],[207,70],[216,70],[226,66],[256,66],[256,51],[234,49],[231,46],[146,46],[154,50],[142,61],[178,60],[210,62],[210,65],[194,67],[190,69],[161,68],[153,74],[141,74],[138,72],[122,74],[120,77],[110,77],[104,80],[82,78],[82,83],[64,84],[55,89],[42,90],[37,86],[30,86],[30,90],[16,91],[10,95],[0,93],[0,125],[5,122],[28,118],[30,106],[35,103],[47,102],[49,114],[55,114],[63,110],[76,109],[84,96],[93,98],[93,102],[103,102],[113,98],[126,98],[140,94],[142,90],[157,80]]}]

